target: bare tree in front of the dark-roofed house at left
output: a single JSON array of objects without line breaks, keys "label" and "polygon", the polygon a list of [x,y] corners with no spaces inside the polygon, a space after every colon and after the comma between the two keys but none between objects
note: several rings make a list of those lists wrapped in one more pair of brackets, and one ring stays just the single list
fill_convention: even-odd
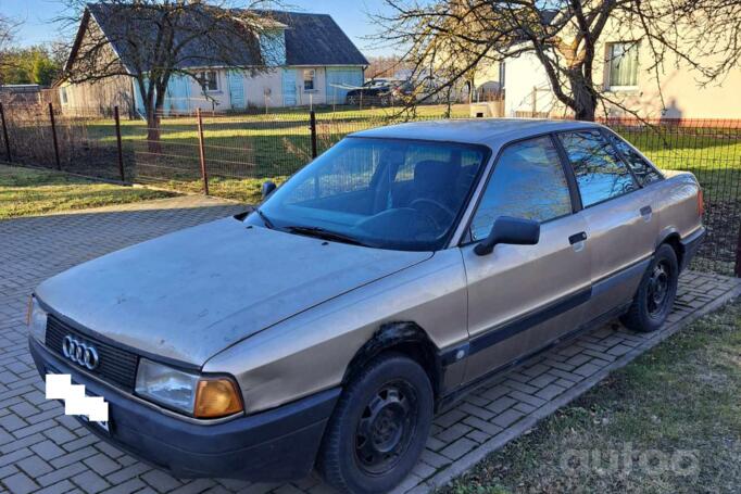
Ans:
[{"label": "bare tree in front of the dark-roofed house at left", "polygon": [[134,80],[143,104],[150,145],[159,148],[167,85],[174,76],[194,79],[198,68],[269,71],[280,63],[282,37],[266,9],[275,1],[241,4],[197,0],[70,0],[75,15],[59,22],[76,25],[64,78],[95,84],[115,77]]}]

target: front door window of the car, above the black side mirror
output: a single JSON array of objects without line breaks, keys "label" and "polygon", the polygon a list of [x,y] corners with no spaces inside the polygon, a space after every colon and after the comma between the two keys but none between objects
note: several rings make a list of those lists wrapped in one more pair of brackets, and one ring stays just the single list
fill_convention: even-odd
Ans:
[{"label": "front door window of the car, above the black side mirror", "polygon": [[502,152],[472,221],[474,240],[486,238],[500,216],[548,221],[572,213],[568,183],[548,137]]}]

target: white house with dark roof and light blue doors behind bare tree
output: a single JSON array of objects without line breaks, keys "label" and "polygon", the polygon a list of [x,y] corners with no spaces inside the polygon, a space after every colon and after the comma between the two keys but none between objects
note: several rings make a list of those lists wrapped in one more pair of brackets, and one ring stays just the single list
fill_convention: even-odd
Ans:
[{"label": "white house with dark roof and light blue doors behind bare tree", "polygon": [[[256,75],[224,66],[199,66],[198,56],[187,69],[201,85],[184,74],[173,76],[167,87],[164,111],[190,113],[196,109],[215,112],[240,111],[248,106],[302,106],[309,104],[343,104],[351,87],[363,84],[368,62],[331,16],[282,11],[265,11],[272,20],[269,36],[260,40],[261,50],[269,51],[272,68]],[[106,35],[113,51],[124,67],[126,48],[123,41],[109,36],[112,26],[104,3],[89,4],[80,23],[78,38],[85,36],[87,23],[96,23]],[[77,43],[76,43],[77,45]],[[72,66],[76,56],[73,49],[67,61]],[[95,84],[59,86],[63,111],[97,111],[108,113],[114,105],[122,112],[142,113],[141,96],[135,79],[117,76]]]}]

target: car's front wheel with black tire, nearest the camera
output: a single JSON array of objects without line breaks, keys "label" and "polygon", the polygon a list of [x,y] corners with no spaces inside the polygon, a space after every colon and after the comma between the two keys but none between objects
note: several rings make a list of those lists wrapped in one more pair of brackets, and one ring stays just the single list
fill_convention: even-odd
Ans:
[{"label": "car's front wheel with black tire, nearest the camera", "polygon": [[398,353],[379,356],[342,392],[324,434],[317,470],[340,492],[390,491],[416,465],[432,408],[432,387],[419,364]]}]

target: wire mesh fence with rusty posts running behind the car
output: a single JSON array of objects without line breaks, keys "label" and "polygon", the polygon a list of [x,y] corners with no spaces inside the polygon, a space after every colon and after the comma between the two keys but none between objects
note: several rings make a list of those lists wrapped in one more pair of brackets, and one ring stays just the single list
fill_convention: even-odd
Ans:
[{"label": "wire mesh fence with rusty posts running behind the car", "polygon": [[[98,118],[47,107],[2,109],[0,155],[126,183],[153,183],[244,202],[260,200],[262,181],[280,182],[353,131],[414,119],[467,115],[444,107],[262,115]],[[708,237],[694,268],[741,276],[741,121],[607,119],[603,124],[658,167],[692,172],[703,187]]]}]

